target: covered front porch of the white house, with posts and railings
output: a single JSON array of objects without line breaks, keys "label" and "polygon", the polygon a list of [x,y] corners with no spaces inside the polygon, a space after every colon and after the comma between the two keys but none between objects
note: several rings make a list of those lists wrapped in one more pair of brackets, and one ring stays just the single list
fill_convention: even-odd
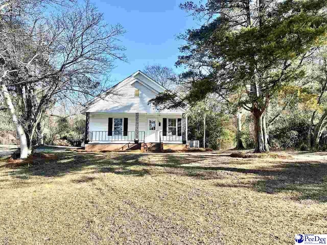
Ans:
[{"label": "covered front porch of the white house, with posts and railings", "polygon": [[186,144],[185,113],[86,112],[85,144]]}]

